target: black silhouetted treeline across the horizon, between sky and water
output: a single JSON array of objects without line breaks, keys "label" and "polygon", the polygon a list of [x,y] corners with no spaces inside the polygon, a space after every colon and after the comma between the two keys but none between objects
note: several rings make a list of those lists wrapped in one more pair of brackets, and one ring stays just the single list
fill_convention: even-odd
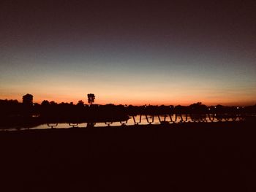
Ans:
[{"label": "black silhouetted treeline across the horizon, between sky and water", "polygon": [[31,102],[27,94],[23,103],[17,100],[0,100],[0,126],[38,126],[42,123],[97,123],[114,122],[129,119],[129,115],[165,115],[165,114],[256,114],[256,105],[249,107],[206,106],[200,102],[189,106],[132,106],[114,104],[78,104],[42,101]]}]

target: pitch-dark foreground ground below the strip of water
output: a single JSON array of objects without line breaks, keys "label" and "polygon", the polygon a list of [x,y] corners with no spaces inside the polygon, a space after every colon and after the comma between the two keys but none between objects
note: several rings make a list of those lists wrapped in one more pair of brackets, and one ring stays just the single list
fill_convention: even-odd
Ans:
[{"label": "pitch-dark foreground ground below the strip of water", "polygon": [[256,191],[255,123],[0,132],[0,191]]}]

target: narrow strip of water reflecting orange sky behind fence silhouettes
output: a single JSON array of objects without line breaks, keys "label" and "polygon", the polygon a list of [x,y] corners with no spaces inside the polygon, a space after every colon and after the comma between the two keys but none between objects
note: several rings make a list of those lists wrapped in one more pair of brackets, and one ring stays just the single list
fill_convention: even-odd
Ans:
[{"label": "narrow strip of water reflecting orange sky behind fence silhouettes", "polygon": [[188,123],[188,122],[219,122],[219,121],[237,121],[243,120],[239,116],[218,116],[216,114],[210,115],[135,115],[130,116],[128,120],[122,122],[102,122],[102,123],[49,123],[35,126],[32,128],[8,128],[1,129],[2,131],[16,131],[26,129],[45,129],[45,128],[86,128],[86,127],[108,127],[108,126],[134,126],[134,125],[148,125],[161,123]]}]

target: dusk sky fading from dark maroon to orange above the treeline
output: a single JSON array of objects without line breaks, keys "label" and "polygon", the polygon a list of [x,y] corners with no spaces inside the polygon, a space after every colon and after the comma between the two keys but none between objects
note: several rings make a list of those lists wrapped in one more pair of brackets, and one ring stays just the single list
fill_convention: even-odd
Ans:
[{"label": "dusk sky fading from dark maroon to orange above the treeline", "polygon": [[0,1],[0,99],[256,104],[255,1]]}]

